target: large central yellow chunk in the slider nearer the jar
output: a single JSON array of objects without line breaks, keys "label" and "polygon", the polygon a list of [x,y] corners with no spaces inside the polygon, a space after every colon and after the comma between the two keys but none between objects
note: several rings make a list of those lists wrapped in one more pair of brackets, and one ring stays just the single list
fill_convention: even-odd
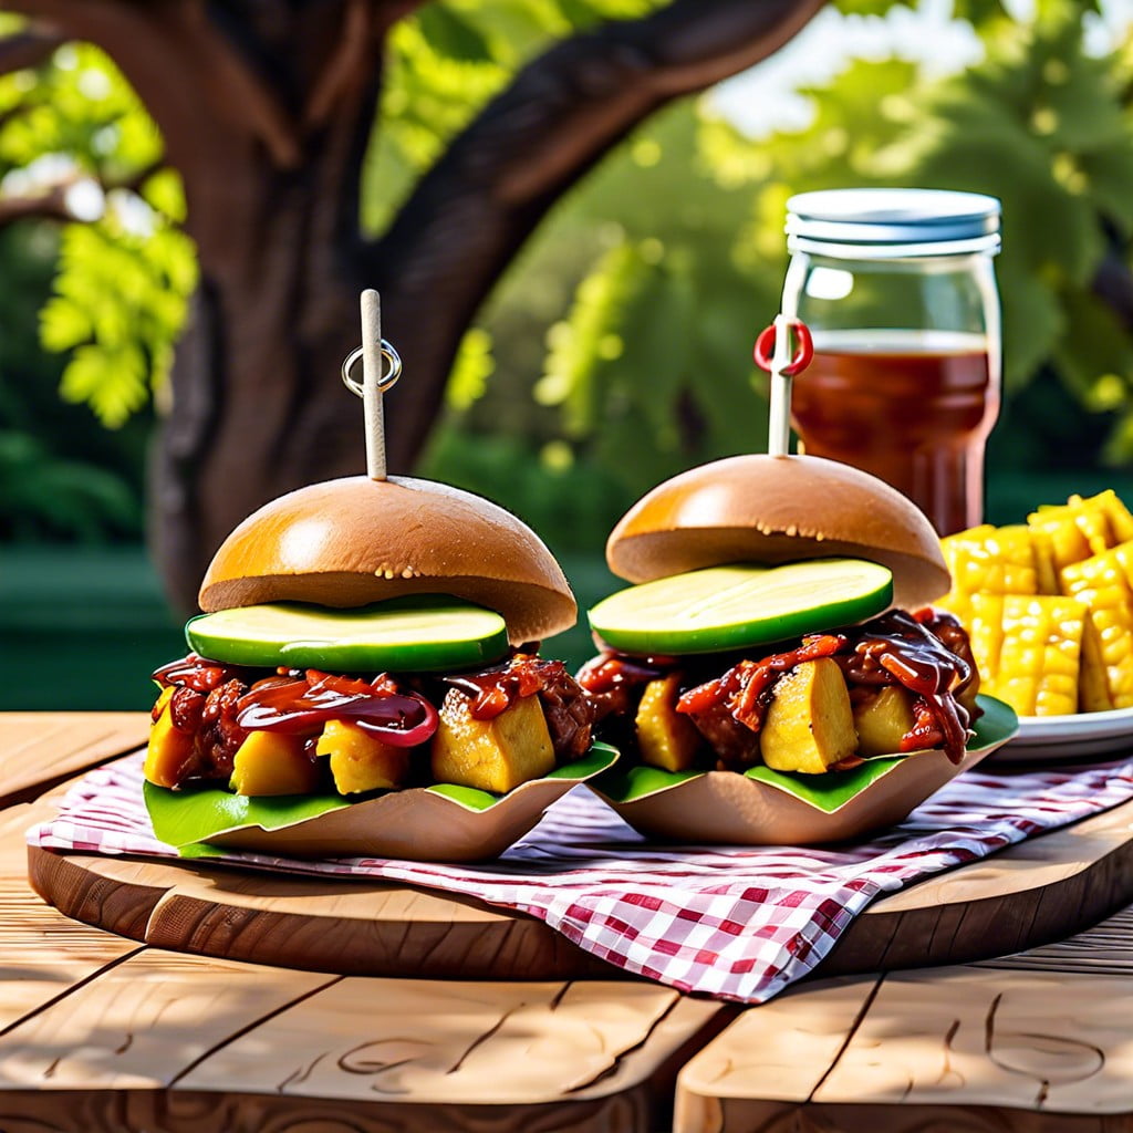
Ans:
[{"label": "large central yellow chunk in the slider nearer the jar", "polygon": [[820,775],[858,749],[850,693],[829,657],[804,661],[783,678],[759,733],[764,763]]}]

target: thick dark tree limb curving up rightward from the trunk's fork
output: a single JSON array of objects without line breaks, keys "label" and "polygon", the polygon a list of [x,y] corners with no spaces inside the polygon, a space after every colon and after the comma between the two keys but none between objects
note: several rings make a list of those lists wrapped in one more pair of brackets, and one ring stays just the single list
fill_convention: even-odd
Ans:
[{"label": "thick dark tree limb curving up rightward from the trunk's fork", "polygon": [[655,110],[765,59],[824,2],[674,0],[607,24],[529,63],[452,143],[363,265],[390,281],[385,324],[423,378],[398,391],[421,425],[392,438],[391,467],[416,457],[460,334],[561,195]]}]

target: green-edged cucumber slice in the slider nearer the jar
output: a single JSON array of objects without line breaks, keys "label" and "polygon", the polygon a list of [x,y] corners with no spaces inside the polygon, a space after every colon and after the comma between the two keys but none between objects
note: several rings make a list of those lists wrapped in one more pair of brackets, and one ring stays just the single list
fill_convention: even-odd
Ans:
[{"label": "green-edged cucumber slice in the slider nearer the jar", "polygon": [[738,564],[673,574],[619,590],[589,613],[614,649],[717,653],[864,621],[893,602],[893,574],[861,559],[783,566]]}]

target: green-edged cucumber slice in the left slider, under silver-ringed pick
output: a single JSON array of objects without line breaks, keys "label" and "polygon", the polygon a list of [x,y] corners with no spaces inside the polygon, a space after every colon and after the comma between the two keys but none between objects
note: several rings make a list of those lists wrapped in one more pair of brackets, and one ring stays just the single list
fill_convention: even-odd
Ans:
[{"label": "green-edged cucumber slice in the left slider, under silver-ringed pick", "polygon": [[211,661],[337,673],[468,668],[508,651],[508,627],[497,613],[443,595],[352,610],[287,602],[238,606],[191,619],[185,637]]}]

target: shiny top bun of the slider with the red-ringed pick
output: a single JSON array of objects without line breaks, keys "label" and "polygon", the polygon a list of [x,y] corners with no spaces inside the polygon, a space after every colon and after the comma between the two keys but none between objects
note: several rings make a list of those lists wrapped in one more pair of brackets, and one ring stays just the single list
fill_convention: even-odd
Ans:
[{"label": "shiny top bun of the slider with the red-ringed pick", "polygon": [[893,571],[894,603],[946,594],[925,513],[876,476],[819,457],[730,457],[659,484],[619,521],[610,569],[631,582],[734,562],[868,559]]}]

